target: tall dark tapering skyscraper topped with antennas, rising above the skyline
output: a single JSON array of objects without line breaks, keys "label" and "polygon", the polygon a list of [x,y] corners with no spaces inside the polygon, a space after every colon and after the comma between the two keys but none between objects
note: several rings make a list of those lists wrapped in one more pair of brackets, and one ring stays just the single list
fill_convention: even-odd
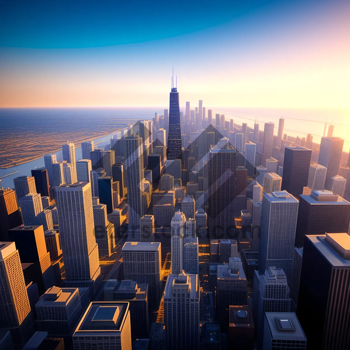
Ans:
[{"label": "tall dark tapering skyscraper topped with antennas, rising above the skyline", "polygon": [[167,159],[181,159],[179,92],[177,92],[177,88],[174,87],[174,74],[172,80],[172,91],[170,92]]}]

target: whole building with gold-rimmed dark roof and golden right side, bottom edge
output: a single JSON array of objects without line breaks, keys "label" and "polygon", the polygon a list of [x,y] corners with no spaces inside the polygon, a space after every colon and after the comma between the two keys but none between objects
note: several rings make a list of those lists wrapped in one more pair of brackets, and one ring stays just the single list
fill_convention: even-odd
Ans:
[{"label": "whole building with gold-rimmed dark roof and golden right side, bottom edge", "polygon": [[129,307],[127,301],[90,303],[73,334],[74,350],[130,350]]}]

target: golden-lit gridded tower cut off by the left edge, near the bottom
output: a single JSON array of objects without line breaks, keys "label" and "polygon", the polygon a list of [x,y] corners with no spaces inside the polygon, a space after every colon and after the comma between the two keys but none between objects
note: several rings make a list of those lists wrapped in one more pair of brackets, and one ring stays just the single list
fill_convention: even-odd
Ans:
[{"label": "golden-lit gridded tower cut off by the left edge, near the bottom", "polygon": [[20,256],[14,242],[0,242],[0,329],[10,330],[15,344],[24,344],[33,331],[30,304]]}]

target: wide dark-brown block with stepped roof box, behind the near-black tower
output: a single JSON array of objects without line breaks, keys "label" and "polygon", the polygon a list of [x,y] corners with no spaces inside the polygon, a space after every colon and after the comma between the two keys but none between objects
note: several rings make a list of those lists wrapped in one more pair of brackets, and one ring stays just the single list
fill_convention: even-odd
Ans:
[{"label": "wide dark-brown block with stepped roof box, behind the near-black tower", "polygon": [[301,195],[296,225],[295,246],[304,245],[305,235],[348,232],[350,203],[331,191],[312,191]]}]

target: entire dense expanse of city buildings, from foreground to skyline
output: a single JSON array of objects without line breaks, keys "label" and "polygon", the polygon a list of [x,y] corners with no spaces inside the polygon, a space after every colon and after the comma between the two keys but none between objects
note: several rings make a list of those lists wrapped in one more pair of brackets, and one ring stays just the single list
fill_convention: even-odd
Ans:
[{"label": "entire dense expanse of city buildings, from foreground to skyline", "polygon": [[0,349],[350,349],[344,140],[180,105],[0,189]]}]

